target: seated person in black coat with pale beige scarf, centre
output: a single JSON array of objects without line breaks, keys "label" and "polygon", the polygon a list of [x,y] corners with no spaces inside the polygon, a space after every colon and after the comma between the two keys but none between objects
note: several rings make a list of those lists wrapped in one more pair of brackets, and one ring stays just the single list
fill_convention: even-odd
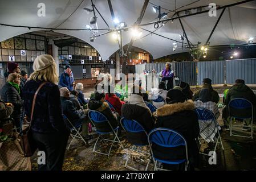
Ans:
[{"label": "seated person in black coat with pale beige scarf, centre", "polygon": [[155,118],[151,114],[151,110],[143,101],[143,94],[139,86],[132,87],[132,94],[127,104],[121,109],[122,116],[126,119],[134,119],[144,127],[149,133],[155,125]]}]

